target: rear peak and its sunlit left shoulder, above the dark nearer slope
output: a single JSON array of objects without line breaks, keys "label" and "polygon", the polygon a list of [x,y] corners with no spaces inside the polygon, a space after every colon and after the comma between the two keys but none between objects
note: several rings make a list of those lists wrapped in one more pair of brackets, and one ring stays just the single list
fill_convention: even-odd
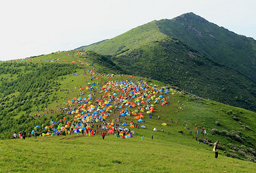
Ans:
[{"label": "rear peak and its sunlit left shoulder, above the dark nearer slope", "polygon": [[217,63],[226,65],[256,81],[256,41],[237,35],[195,15],[152,21],[101,43],[80,47],[103,55],[117,55],[138,45],[174,37]]}]

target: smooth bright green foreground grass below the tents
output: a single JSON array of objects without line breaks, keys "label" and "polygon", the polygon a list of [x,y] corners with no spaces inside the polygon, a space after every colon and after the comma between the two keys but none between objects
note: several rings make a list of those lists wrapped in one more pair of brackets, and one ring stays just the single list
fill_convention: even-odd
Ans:
[{"label": "smooth bright green foreground grass below the tents", "polygon": [[[144,129],[143,129],[144,130]],[[143,132],[139,129],[139,132]],[[180,134],[145,130],[122,140],[112,134],[1,140],[1,172],[254,172],[256,164],[214,158],[212,148]],[[161,134],[163,133],[163,134]],[[164,138],[163,138],[164,137]]]}]

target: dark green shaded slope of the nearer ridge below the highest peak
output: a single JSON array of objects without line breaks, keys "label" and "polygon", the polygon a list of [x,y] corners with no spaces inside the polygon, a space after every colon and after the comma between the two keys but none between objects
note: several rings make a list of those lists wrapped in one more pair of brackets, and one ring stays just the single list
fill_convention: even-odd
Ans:
[{"label": "dark green shaded slope of the nearer ridge below the highest peak", "polygon": [[193,94],[256,111],[253,81],[175,39],[148,43],[113,59],[131,75],[168,81]]}]

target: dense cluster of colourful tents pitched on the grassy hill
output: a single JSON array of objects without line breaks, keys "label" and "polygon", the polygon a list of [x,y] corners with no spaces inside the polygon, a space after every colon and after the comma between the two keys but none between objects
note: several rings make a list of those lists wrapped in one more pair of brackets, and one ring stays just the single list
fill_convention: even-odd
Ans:
[{"label": "dense cluster of colourful tents pitched on the grassy hill", "polygon": [[[90,71],[90,73],[93,73],[93,71]],[[106,75],[106,77],[111,78],[115,76]],[[89,94],[79,98],[72,98],[63,104],[72,108],[67,114],[73,115],[73,119],[67,121],[63,118],[63,121],[59,120],[58,122],[51,122],[48,126],[42,126],[42,128],[47,130],[47,133],[42,135],[60,135],[62,131],[66,133],[79,133],[84,130],[88,131],[89,136],[93,136],[96,132],[92,129],[91,123],[105,122],[107,117],[115,110],[119,112],[119,118],[133,116],[133,119],[138,124],[141,124],[140,128],[146,128],[143,113],[147,112],[147,114],[152,115],[156,111],[154,104],[166,104],[167,101],[163,98],[163,94],[169,92],[169,89],[166,87],[158,88],[157,85],[151,86],[145,81],[109,81],[101,88],[96,87],[97,85],[99,83],[87,83],[87,86],[79,87],[81,95],[85,95],[83,90],[88,90]],[[95,93],[91,92],[91,90],[96,88],[103,93],[101,98],[95,98]],[[175,90],[171,91],[179,93]],[[117,122],[120,121],[119,118],[116,119]],[[167,123],[164,122],[162,125],[166,126]],[[137,127],[133,120],[129,124],[124,122],[121,126],[113,121],[111,123],[105,122],[105,126],[101,129],[107,129],[107,132],[110,134],[118,132],[120,136],[127,134],[125,138],[130,138],[132,133],[129,133],[128,126],[129,128]],[[37,127],[39,126],[36,126],[35,130]],[[135,134],[134,131],[133,134]]]}]

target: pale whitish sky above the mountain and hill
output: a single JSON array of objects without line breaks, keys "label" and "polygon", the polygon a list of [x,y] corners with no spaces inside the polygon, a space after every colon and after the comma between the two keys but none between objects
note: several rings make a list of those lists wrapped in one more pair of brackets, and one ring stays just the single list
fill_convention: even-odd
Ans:
[{"label": "pale whitish sky above the mountain and hill", "polygon": [[255,0],[1,1],[0,60],[68,51],[193,12],[256,39]]}]

